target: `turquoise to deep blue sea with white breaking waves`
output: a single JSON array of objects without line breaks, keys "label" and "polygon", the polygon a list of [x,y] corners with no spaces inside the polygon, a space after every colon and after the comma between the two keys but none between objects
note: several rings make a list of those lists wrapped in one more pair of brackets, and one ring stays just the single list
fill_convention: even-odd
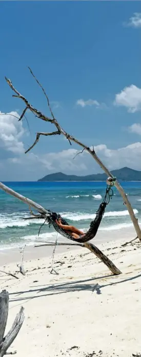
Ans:
[{"label": "turquoise to deep blue sea with white breaking waves", "polygon": [[[46,209],[61,213],[65,219],[79,229],[86,231],[105,195],[104,182],[8,182],[5,185],[41,204]],[[141,222],[141,182],[122,183]],[[123,229],[132,226],[130,216],[123,205],[122,197],[116,188],[114,196],[106,208],[99,230]],[[33,244],[41,222],[24,221],[29,215],[26,204],[0,189],[0,249]],[[44,225],[42,239],[55,239],[53,228]],[[64,238],[62,237],[64,240]]]}]

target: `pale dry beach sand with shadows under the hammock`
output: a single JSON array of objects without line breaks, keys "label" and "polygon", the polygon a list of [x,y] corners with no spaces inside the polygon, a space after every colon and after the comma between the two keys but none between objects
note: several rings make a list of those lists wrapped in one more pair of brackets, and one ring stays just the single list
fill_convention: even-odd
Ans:
[{"label": "pale dry beach sand with shadows under the hammock", "polygon": [[25,308],[24,324],[9,351],[17,350],[17,357],[141,353],[141,249],[137,241],[126,248],[122,243],[98,245],[122,270],[119,276],[84,248],[55,254],[59,275],[50,274],[51,256],[44,257],[48,247],[26,248],[26,276],[17,272],[15,259],[2,266],[19,277],[0,275],[1,290],[10,294],[7,330],[19,308]]}]

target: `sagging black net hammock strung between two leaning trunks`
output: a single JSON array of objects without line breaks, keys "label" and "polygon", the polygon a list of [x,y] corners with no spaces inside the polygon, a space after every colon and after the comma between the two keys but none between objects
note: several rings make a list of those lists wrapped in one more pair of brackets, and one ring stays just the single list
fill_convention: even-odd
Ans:
[{"label": "sagging black net hammock strung between two leaning trunks", "polygon": [[50,210],[48,210],[49,213],[50,213],[50,216],[47,218],[47,222],[49,224],[49,227],[52,225],[54,227],[54,229],[56,230],[56,232],[58,232],[59,234],[65,236],[66,238],[70,239],[71,241],[75,241],[75,242],[78,242],[78,243],[88,242],[91,239],[93,239],[94,236],[96,235],[98,227],[100,225],[100,222],[102,221],[102,217],[104,215],[105,208],[108,205],[108,203],[109,203],[109,201],[110,201],[112,196],[113,196],[113,190],[111,189],[111,186],[107,186],[104,200],[103,200],[102,203],[100,203],[100,206],[99,206],[98,210],[96,211],[95,219],[90,223],[90,228],[89,228],[89,230],[86,232],[86,234],[83,237],[80,237],[78,239],[77,238],[73,238],[71,236],[71,234],[66,232],[63,228],[59,227],[55,222],[58,219],[61,219],[61,222],[62,222],[63,225],[66,226],[66,229],[67,229],[67,226],[69,224],[66,222],[66,220],[64,220],[63,217],[61,217],[60,214],[52,212]]}]

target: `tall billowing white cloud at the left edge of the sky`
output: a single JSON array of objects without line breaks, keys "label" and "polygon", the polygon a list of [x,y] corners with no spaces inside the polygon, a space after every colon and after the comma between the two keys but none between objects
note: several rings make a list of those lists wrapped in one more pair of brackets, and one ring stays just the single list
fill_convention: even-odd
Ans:
[{"label": "tall billowing white cloud at the left edge of the sky", "polygon": [[0,111],[0,146],[13,153],[24,152],[21,136],[24,134],[22,122],[18,122],[19,115],[15,111],[2,113]]}]

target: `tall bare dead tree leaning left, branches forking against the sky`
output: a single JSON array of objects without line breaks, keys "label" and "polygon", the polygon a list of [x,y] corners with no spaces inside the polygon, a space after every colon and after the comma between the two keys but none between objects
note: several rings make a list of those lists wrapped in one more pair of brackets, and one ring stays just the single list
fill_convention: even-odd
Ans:
[{"label": "tall bare dead tree leaning left, branches forking against the sky", "polygon": [[[12,82],[7,78],[5,77],[6,79],[6,82],[7,84],[10,86],[10,88],[13,90],[13,92],[15,94],[13,94],[13,97],[16,97],[16,98],[20,98],[22,99],[22,101],[25,103],[26,107],[22,113],[22,115],[25,114],[25,111],[27,109],[29,109],[33,114],[35,114],[36,117],[38,117],[39,119],[45,121],[45,122],[48,122],[48,123],[51,123],[55,126],[55,128],[57,129],[57,131],[52,131],[52,132],[38,132],[36,134],[36,139],[34,141],[34,143],[30,146],[30,148],[28,150],[26,150],[25,153],[29,152],[36,144],[37,142],[39,141],[39,137],[42,136],[42,135],[45,135],[45,136],[50,136],[50,135],[64,135],[70,145],[71,145],[71,142],[74,142],[76,144],[78,144],[79,146],[81,146],[83,148],[83,150],[86,150],[93,158],[94,160],[96,161],[96,163],[104,170],[104,172],[107,174],[107,176],[109,177],[112,177],[113,178],[113,175],[111,174],[111,172],[107,169],[107,167],[103,164],[103,162],[100,160],[100,158],[96,155],[95,153],[95,150],[94,150],[94,147],[93,148],[90,148],[88,147],[87,145],[81,143],[79,140],[77,140],[74,136],[70,135],[69,133],[67,133],[62,127],[61,125],[58,123],[58,121],[56,120],[56,118],[54,117],[54,114],[51,110],[51,107],[50,107],[50,103],[49,103],[49,98],[43,88],[43,86],[41,85],[41,83],[39,83],[39,81],[37,80],[37,78],[35,77],[35,75],[33,74],[32,70],[30,67],[28,67],[29,70],[30,70],[30,73],[32,74],[32,76],[34,77],[35,81],[37,82],[37,84],[39,85],[39,87],[41,87],[41,89],[43,90],[46,98],[47,98],[47,103],[48,103],[48,107],[49,107],[49,110],[50,110],[50,113],[51,113],[51,117],[48,117],[47,115],[43,114],[41,111],[37,110],[35,107],[33,107],[29,102],[28,100],[26,99],[25,96],[23,96],[21,93],[19,93],[17,91],[17,89],[13,86]],[[22,117],[21,115],[21,117]],[[129,214],[130,214],[130,217],[131,217],[131,220],[133,222],[133,225],[134,225],[134,228],[135,228],[135,231],[137,233],[137,236],[138,236],[138,239],[139,241],[141,242],[141,230],[140,230],[140,227],[138,225],[138,220],[136,219],[135,217],[135,214],[133,212],[133,209],[132,209],[132,206],[128,200],[128,197],[124,191],[124,189],[122,188],[122,186],[119,185],[118,181],[116,180],[114,182],[114,186],[117,188],[117,190],[119,191],[120,195],[122,195],[123,197],[123,200],[127,206],[127,209],[129,211]]]}]

